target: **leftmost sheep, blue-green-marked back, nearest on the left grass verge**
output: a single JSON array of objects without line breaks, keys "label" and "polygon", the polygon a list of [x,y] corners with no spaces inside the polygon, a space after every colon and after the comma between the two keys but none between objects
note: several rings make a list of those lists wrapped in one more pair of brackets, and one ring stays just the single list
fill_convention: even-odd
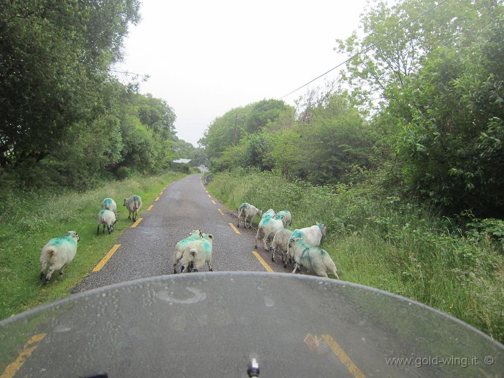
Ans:
[{"label": "leftmost sheep, blue-green-marked back, nearest on the left grass verge", "polygon": [[44,279],[45,268],[49,264],[44,285],[51,279],[52,273],[59,270],[59,275],[65,273],[65,265],[70,263],[77,252],[79,234],[75,231],[67,231],[67,236],[50,239],[42,248],[40,254],[40,279]]}]

